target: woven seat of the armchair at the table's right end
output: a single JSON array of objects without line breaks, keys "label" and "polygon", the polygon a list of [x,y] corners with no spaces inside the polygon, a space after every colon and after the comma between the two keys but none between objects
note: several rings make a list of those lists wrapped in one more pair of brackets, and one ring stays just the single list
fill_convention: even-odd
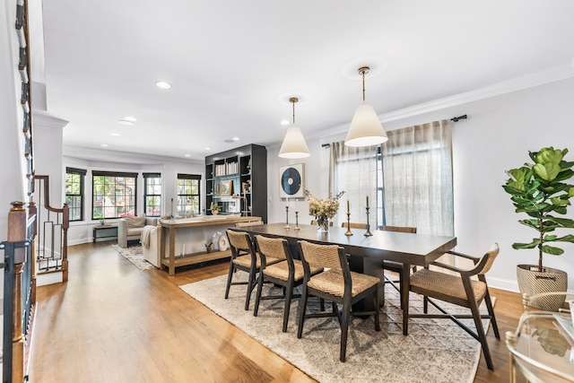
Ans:
[{"label": "woven seat of the armchair at the table's right end", "polygon": [[[484,294],[486,293],[486,283],[471,281],[471,284],[473,286],[474,298],[477,301],[483,300]],[[411,285],[431,292],[438,292],[450,297],[467,300],[463,280],[457,275],[421,269],[411,275]]]}]

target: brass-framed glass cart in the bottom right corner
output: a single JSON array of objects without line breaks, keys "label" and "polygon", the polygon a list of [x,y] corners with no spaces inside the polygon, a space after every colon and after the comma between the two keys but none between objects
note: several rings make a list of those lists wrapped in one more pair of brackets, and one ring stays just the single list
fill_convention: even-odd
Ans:
[{"label": "brass-framed glass cart in the bottom right corner", "polygon": [[517,370],[531,382],[574,382],[574,328],[570,314],[525,312],[506,333],[510,381]]}]

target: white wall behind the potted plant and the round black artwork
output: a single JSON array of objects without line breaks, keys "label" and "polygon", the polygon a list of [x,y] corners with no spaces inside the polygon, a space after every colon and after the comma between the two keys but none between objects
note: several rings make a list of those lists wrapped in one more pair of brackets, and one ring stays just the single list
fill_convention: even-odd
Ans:
[{"label": "white wall behind the potted plant and the round black artwork", "polygon": [[[572,100],[574,79],[570,78],[385,123],[387,130],[393,130],[468,115],[468,119],[452,125],[457,250],[480,256],[491,243],[500,244],[500,255],[488,274],[491,287],[517,292],[516,265],[537,263],[535,250],[511,248],[513,242],[530,241],[535,231],[517,223],[526,216],[514,213],[509,195],[501,187],[506,180],[505,170],[521,166],[529,161],[528,151],[544,146],[568,148],[571,152],[566,159],[574,161]],[[305,187],[326,196],[329,156],[321,144],[343,139],[344,135],[337,133],[309,140],[311,156],[296,161],[277,157],[278,145],[267,148],[269,222],[285,220],[285,203],[279,200],[278,167],[305,163]],[[300,222],[309,222],[307,205],[299,205]],[[574,207],[570,207],[568,216],[574,218]],[[294,213],[290,214],[291,220]],[[561,257],[544,255],[544,264],[566,271],[572,290],[574,246],[565,244],[563,248],[565,254]]]}]

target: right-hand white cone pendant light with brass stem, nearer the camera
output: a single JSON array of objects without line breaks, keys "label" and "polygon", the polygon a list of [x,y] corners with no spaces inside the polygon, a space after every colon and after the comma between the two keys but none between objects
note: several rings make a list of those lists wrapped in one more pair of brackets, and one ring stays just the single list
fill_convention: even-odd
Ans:
[{"label": "right-hand white cone pendant light with brass stem, nearer the camera", "polygon": [[362,104],[355,109],[351,126],[344,144],[347,146],[378,145],[388,140],[387,133],[378,119],[372,105],[365,102],[365,74],[369,73],[369,66],[359,68],[362,75]]}]

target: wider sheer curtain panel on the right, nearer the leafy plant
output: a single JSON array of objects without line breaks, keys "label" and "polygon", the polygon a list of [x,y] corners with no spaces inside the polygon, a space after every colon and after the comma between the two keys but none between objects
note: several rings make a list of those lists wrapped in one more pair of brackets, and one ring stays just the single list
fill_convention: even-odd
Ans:
[{"label": "wider sheer curtain panel on the right, nearer the leafy plant", "polygon": [[454,235],[452,139],[448,120],[387,132],[381,145],[386,224]]}]

